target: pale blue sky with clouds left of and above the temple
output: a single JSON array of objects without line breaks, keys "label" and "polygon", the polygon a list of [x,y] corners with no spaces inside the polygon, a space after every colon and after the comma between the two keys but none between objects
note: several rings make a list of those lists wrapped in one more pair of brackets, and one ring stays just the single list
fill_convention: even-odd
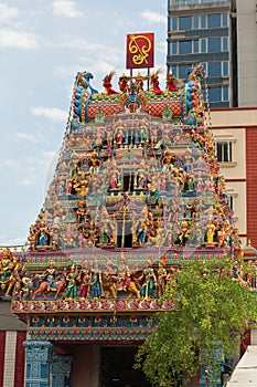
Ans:
[{"label": "pale blue sky with clouds left of and above the temple", "polygon": [[164,76],[167,0],[0,0],[0,245],[23,244],[40,212],[77,72],[103,91],[116,70],[117,88],[137,32],[154,32]]}]

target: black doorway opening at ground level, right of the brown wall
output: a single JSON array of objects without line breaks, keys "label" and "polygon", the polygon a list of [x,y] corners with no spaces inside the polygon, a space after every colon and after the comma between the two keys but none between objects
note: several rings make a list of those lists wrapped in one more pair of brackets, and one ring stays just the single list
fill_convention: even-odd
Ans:
[{"label": "black doorway opening at ground level, right of the brown wall", "polygon": [[137,347],[101,348],[100,387],[150,387],[144,374],[133,369]]}]

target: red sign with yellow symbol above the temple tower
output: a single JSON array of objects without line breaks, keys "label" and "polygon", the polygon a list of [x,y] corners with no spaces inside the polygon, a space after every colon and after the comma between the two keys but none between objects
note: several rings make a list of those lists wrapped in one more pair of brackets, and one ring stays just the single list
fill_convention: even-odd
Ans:
[{"label": "red sign with yellow symbol above the temple tower", "polygon": [[131,33],[127,35],[127,69],[154,66],[154,33]]}]

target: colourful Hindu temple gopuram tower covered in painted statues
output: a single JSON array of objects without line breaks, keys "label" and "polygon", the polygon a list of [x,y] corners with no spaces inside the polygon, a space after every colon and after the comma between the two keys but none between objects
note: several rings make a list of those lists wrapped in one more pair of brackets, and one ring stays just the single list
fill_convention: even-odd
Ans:
[{"label": "colourful Hindu temple gopuram tower covered in painted statues", "polygon": [[[2,300],[26,324],[25,386],[140,386],[132,369],[161,295],[190,260],[242,253],[202,98],[159,71],[78,73],[62,150],[23,252],[0,259]],[[21,385],[20,385],[21,386]]]}]

